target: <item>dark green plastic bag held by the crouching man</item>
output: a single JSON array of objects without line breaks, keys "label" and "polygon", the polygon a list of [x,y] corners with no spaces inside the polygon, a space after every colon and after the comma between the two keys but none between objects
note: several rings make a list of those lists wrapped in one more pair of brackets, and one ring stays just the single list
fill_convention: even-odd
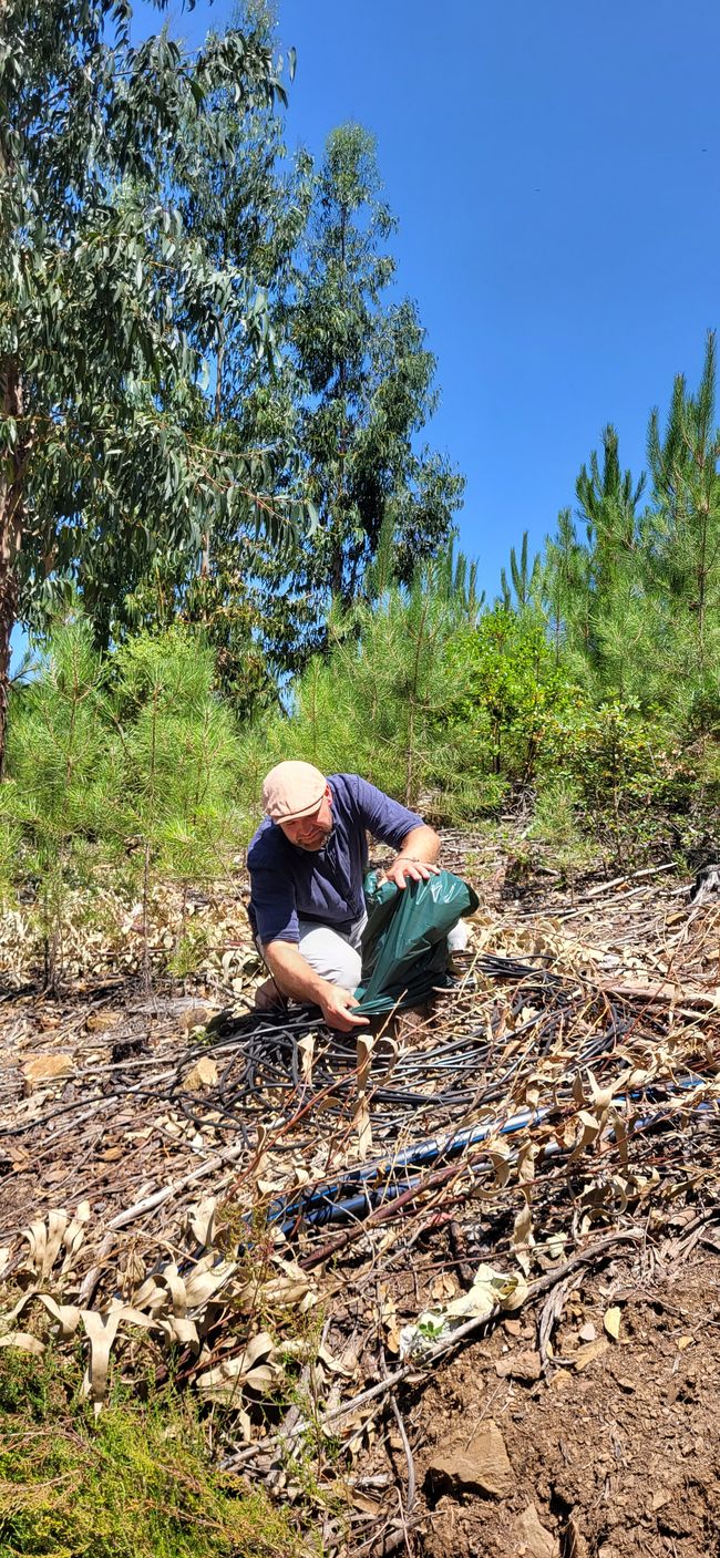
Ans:
[{"label": "dark green plastic bag held by the crouching man", "polygon": [[447,978],[447,935],[463,915],[474,915],[477,893],[452,871],[427,882],[377,885],[365,879],[368,924],[363,930],[363,978],[355,996],[363,1013],[416,1006]]}]

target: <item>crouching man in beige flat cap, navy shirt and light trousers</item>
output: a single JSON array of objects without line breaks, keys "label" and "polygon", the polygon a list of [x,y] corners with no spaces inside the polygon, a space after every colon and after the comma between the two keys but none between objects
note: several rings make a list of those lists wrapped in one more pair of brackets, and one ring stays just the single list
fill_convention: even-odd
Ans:
[{"label": "crouching man in beige flat cap, navy shirt and light trousers", "polygon": [[385,877],[399,888],[436,872],[439,838],[358,774],[326,779],[312,763],[277,763],[262,799],[266,820],[248,851],[259,947],[282,996],[312,1002],[332,1028],[351,1033],[368,1022],[352,1013],[368,918],[366,834],[397,851]]}]

